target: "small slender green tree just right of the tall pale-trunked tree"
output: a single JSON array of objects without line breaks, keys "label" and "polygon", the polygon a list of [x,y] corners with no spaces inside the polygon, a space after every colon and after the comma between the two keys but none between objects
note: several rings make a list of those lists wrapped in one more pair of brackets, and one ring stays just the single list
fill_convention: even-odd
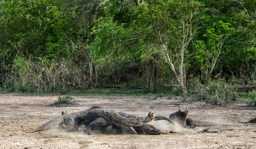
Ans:
[{"label": "small slender green tree just right of the tall pale-trunked tree", "polygon": [[[207,30],[203,35],[206,42],[197,40],[194,43],[196,49],[196,61],[199,65],[204,81],[209,81],[212,71],[219,62],[220,54],[223,53],[223,46],[229,35],[234,32],[234,27],[230,27],[230,23],[219,21],[214,27]],[[225,53],[229,54],[229,53]]]}]

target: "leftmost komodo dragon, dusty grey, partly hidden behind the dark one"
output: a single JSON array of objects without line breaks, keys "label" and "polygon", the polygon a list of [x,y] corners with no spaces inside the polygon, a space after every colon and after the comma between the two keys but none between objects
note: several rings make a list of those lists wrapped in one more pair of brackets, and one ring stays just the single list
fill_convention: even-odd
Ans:
[{"label": "leftmost komodo dragon, dusty grey, partly hidden behind the dark one", "polygon": [[[31,132],[40,132],[43,130],[52,129],[52,127],[59,125],[60,128],[64,128],[63,124],[67,126],[69,129],[72,129],[73,123],[75,122],[74,119],[78,115],[86,115],[89,111],[95,108],[103,108],[101,106],[93,106],[88,109],[85,109],[83,111],[75,112],[72,114],[67,114],[67,111],[62,111],[62,115],[59,117],[55,117],[53,120],[50,120],[49,122],[45,123],[44,125],[40,126],[39,128],[32,130]],[[28,133],[31,133],[28,132]]]}]

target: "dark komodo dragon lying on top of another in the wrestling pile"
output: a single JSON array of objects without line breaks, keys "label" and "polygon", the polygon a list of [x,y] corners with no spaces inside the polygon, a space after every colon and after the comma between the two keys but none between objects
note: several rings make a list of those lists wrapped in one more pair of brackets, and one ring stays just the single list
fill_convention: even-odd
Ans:
[{"label": "dark komodo dragon lying on top of another in the wrestling pile", "polygon": [[118,112],[108,109],[92,109],[87,113],[87,115],[78,115],[75,117],[73,129],[70,131],[77,131],[80,125],[86,126],[85,132],[88,135],[94,134],[92,132],[93,129],[102,129],[110,125],[123,127],[124,129],[136,133],[133,127],[140,127],[143,125],[143,122],[133,117],[124,117],[118,114]]}]

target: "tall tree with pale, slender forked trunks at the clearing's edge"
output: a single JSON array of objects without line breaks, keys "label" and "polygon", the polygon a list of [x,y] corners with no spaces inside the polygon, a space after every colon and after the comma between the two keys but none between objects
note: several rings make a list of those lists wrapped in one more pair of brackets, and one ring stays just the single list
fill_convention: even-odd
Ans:
[{"label": "tall tree with pale, slender forked trunks at the clearing's edge", "polygon": [[198,1],[158,0],[141,4],[138,9],[141,26],[147,30],[145,39],[148,42],[145,43],[150,42],[149,47],[154,47],[155,53],[161,53],[182,88],[184,100],[187,93],[186,60],[190,56],[187,48],[196,30],[199,6]]}]

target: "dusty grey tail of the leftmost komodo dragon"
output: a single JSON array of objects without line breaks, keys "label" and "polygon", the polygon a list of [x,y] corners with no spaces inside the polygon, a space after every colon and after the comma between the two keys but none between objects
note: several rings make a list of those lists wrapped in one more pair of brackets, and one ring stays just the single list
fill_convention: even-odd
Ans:
[{"label": "dusty grey tail of the leftmost komodo dragon", "polygon": [[59,116],[59,117],[55,117],[53,120],[50,120],[49,122],[45,123],[44,125],[42,125],[41,127],[32,130],[30,132],[27,133],[32,133],[32,132],[40,132],[43,130],[48,130],[48,129],[52,129],[52,127],[54,127],[55,125],[59,125],[64,123],[64,117],[63,115]]}]

